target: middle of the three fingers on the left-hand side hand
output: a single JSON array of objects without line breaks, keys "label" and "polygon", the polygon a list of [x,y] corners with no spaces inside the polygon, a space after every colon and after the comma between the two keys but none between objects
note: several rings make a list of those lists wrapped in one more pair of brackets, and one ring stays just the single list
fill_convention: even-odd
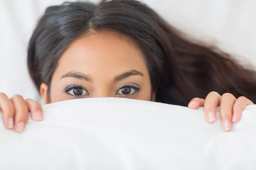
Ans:
[{"label": "middle of the three fingers on the left-hand side hand", "polygon": [[21,133],[29,119],[29,110],[22,96],[15,95],[11,98],[11,101],[15,108],[14,129]]}]

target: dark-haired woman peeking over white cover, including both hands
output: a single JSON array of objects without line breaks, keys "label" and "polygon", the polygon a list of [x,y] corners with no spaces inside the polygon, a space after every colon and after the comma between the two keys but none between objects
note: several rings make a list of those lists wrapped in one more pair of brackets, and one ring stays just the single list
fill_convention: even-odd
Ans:
[{"label": "dark-haired woman peeking over white cover, including both hands", "polygon": [[[229,131],[256,102],[256,73],[228,54],[192,42],[136,0],[50,6],[29,42],[29,73],[46,104],[85,97],[125,97],[204,107]],[[190,101],[190,102],[189,102]],[[32,99],[0,95],[6,128],[23,132]]]}]

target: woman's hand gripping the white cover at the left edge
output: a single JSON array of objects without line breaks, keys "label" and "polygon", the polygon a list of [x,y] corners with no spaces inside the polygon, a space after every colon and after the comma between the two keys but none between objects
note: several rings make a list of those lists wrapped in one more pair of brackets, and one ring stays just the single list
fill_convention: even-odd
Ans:
[{"label": "woman's hand gripping the white cover at the left edge", "polygon": [[29,112],[35,121],[43,120],[42,106],[32,99],[24,100],[20,95],[9,99],[6,94],[0,93],[0,111],[3,113],[3,122],[7,129],[14,129],[21,133],[24,131],[29,119]]}]

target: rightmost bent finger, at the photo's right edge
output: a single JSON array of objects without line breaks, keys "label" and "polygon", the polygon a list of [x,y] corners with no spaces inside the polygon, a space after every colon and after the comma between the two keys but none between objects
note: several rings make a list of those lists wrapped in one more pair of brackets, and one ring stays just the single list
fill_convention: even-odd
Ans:
[{"label": "rightmost bent finger, at the photo's right edge", "polygon": [[241,119],[242,111],[248,105],[254,105],[252,101],[244,96],[239,97],[233,105],[232,122],[238,122]]}]

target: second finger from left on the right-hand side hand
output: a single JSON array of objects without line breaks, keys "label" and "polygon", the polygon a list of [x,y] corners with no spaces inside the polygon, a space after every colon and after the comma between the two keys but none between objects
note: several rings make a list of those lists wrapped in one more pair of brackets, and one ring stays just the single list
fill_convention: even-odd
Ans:
[{"label": "second finger from left on the right-hand side hand", "polygon": [[207,122],[212,123],[216,120],[216,108],[220,104],[221,95],[213,91],[209,93],[204,102],[204,115]]}]

